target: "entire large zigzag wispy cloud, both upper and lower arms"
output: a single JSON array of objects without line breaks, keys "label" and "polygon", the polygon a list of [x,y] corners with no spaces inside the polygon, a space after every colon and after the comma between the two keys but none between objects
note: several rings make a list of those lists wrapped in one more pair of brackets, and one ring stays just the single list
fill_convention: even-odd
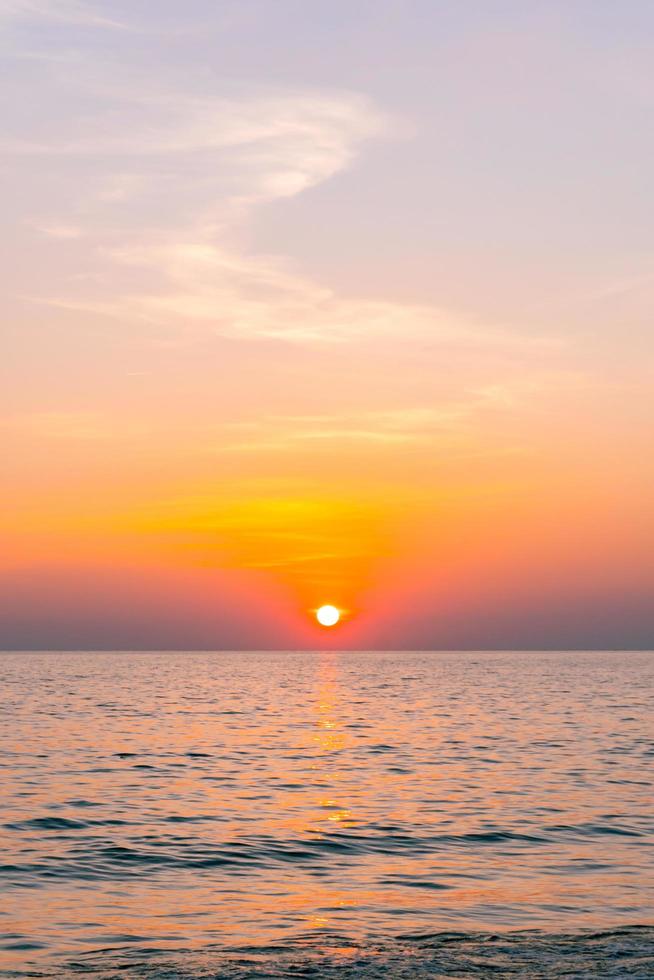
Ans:
[{"label": "entire large zigzag wispy cloud, both upper and lower arms", "polygon": [[343,173],[364,141],[392,131],[364,95],[221,86],[205,75],[153,77],[88,59],[74,73],[59,62],[37,70],[46,111],[18,120],[4,150],[18,170],[47,158],[62,211],[30,220],[69,239],[78,259],[56,291],[32,295],[39,303],[111,318],[125,338],[159,332],[175,343],[219,335],[301,345],[373,337],[447,350],[556,346],[425,304],[340,296],[288,260],[243,245],[257,209]]}]

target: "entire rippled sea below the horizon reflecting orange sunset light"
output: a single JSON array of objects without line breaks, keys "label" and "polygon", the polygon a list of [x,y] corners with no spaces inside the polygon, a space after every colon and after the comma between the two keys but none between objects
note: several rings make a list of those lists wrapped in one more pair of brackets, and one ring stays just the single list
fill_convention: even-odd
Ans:
[{"label": "entire rippled sea below the horizon reflecting orange sunset light", "polygon": [[654,977],[654,655],[0,654],[0,974]]}]

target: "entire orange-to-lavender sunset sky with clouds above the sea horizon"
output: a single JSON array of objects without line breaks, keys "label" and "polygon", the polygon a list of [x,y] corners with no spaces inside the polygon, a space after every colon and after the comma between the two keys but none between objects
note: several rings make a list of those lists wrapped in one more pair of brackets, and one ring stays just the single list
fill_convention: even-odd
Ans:
[{"label": "entire orange-to-lavender sunset sky with clouds above the sea horizon", "polygon": [[654,646],[651,3],[0,34],[3,648]]}]

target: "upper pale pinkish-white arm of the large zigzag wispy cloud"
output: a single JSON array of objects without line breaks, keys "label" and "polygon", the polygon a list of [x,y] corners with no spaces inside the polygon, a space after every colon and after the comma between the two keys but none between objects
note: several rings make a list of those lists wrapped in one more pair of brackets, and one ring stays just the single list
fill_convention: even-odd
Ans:
[{"label": "upper pale pinkish-white arm of the large zigzag wispy cloud", "polygon": [[[109,66],[98,75],[97,68],[78,62],[71,86],[70,65],[44,70],[58,90],[57,101],[70,104],[67,118],[56,135],[47,119],[42,133],[28,120],[24,135],[2,140],[2,151],[68,158],[71,164],[86,159],[105,181],[105,200],[151,198],[163,186],[174,210],[192,197],[193,181],[202,197],[195,213],[206,215],[208,209],[224,217],[227,203],[292,197],[339,173],[362,140],[386,125],[368,99],[351,92],[206,94],[204,79],[196,81],[195,91],[187,79],[155,85],[139,72],[109,83]],[[116,73],[125,76],[124,69],[116,67]],[[80,84],[97,99],[96,112],[76,106]]]}]

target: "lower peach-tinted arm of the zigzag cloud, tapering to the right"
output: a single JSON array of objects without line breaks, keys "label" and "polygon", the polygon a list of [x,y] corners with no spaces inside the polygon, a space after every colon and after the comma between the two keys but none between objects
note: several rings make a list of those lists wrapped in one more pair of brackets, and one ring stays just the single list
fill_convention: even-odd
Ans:
[{"label": "lower peach-tinted arm of the zigzag cloud, tapering to the right", "polygon": [[344,298],[299,275],[274,256],[255,256],[213,244],[212,230],[195,239],[173,235],[105,251],[115,267],[141,268],[160,280],[156,291],[50,297],[60,308],[109,316],[123,323],[165,327],[180,340],[207,333],[241,340],[333,344],[366,337],[422,340],[457,349],[556,350],[560,341],[490,329],[433,306]]}]

